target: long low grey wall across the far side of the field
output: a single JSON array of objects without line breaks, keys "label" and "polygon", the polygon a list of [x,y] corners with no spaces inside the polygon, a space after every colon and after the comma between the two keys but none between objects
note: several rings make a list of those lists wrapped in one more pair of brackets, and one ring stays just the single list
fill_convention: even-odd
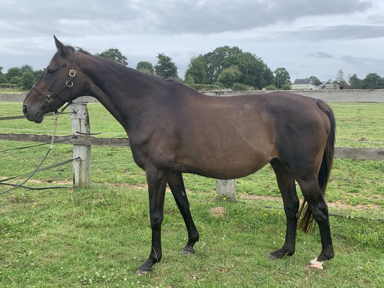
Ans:
[{"label": "long low grey wall across the far side of the field", "polygon": [[[273,91],[203,91],[204,94],[211,96],[235,96],[241,94],[264,94],[271,92]],[[286,92],[318,98],[326,102],[384,102],[384,90],[290,90]],[[26,95],[26,92],[19,94],[0,94],[0,102],[23,102]],[[90,96],[83,96],[78,98],[78,100],[85,102],[97,101],[95,98]]]}]

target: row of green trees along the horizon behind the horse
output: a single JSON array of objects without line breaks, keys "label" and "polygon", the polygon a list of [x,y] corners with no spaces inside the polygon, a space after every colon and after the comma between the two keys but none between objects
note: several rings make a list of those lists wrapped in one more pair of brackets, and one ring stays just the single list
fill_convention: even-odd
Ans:
[{"label": "row of green trees along the horizon behind the horse", "polygon": [[[96,56],[111,59],[122,65],[128,65],[128,59],[118,49],[108,49]],[[140,61],[136,69],[168,79],[173,78],[197,89],[212,90],[231,88],[232,90],[290,90],[291,79],[284,67],[272,71],[260,58],[250,52],[243,52],[239,47],[223,46],[206,54],[200,54],[189,59],[184,79],[179,78],[177,66],[172,58],[164,53],[156,56],[157,63]],[[43,70],[34,70],[30,65],[11,67],[3,73],[0,66],[0,88],[18,88],[29,90],[37,81]],[[316,86],[322,84],[338,84],[349,89],[384,89],[384,78],[376,73],[368,73],[360,79],[356,74],[344,75],[338,70],[334,80],[321,81],[316,76],[310,76]]]}]

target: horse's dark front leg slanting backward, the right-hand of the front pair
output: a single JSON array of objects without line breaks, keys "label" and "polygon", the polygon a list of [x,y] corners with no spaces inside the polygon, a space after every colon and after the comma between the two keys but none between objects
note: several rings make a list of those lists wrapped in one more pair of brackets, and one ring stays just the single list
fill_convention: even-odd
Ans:
[{"label": "horse's dark front leg slanting backward, the right-hand of the front pair", "polygon": [[186,197],[182,174],[171,173],[168,177],[168,185],[172,191],[174,200],[176,201],[182,218],[184,219],[186,230],[188,231],[188,242],[181,250],[181,254],[193,254],[195,252],[194,245],[197,241],[199,241],[199,232],[196,229],[194,220],[192,219],[192,215],[189,211],[189,202]]}]

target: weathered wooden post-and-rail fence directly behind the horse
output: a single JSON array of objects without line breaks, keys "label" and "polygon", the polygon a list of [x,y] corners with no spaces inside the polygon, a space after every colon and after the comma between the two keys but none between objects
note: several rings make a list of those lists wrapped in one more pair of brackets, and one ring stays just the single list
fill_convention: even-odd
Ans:
[{"label": "weathered wooden post-and-rail fence directly behind the horse", "polygon": [[[129,147],[128,138],[103,138],[84,135],[90,132],[87,104],[73,103],[70,108],[73,135],[56,136],[56,141],[73,145],[73,158],[80,157],[80,161],[73,162],[74,184],[89,186],[91,184],[91,146]],[[50,142],[52,135],[30,133],[0,133],[0,140]],[[335,158],[354,160],[384,160],[384,148],[347,148],[336,147]],[[218,199],[224,197],[234,199],[236,196],[235,180],[217,180]]]}]

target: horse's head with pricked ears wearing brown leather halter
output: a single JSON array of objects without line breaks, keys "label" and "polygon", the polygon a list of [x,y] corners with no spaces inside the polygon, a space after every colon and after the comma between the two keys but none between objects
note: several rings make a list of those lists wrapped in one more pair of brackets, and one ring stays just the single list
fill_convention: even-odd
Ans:
[{"label": "horse's head with pricked ears wearing brown leather halter", "polygon": [[57,53],[23,103],[24,115],[36,123],[43,121],[45,113],[57,112],[64,103],[72,103],[82,93],[80,73],[76,75],[78,51],[54,38]]}]

